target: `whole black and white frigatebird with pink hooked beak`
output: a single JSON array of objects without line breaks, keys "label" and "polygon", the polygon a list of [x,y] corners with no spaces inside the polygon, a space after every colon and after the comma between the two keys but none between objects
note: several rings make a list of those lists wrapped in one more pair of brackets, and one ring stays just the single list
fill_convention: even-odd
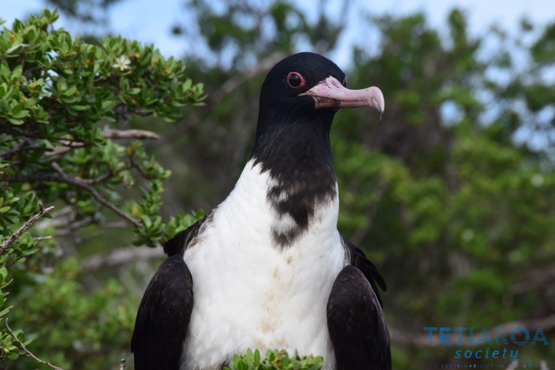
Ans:
[{"label": "whole black and white frigatebird with pink hooked beak", "polygon": [[391,369],[377,286],[364,252],[337,231],[330,128],[339,108],[374,107],[331,60],[298,53],[260,92],[256,141],[229,196],[164,244],[139,305],[135,369],[220,369],[246,349],[324,356],[324,369]]}]

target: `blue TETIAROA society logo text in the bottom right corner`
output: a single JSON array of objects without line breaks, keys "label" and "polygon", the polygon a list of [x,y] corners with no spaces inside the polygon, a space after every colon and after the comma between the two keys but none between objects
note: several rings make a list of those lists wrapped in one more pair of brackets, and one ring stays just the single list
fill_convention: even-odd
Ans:
[{"label": "blue TETIAROA society logo text in the bottom right corner", "polygon": [[[480,333],[475,333],[473,327],[424,327],[424,331],[428,332],[428,343],[438,344],[433,342],[433,332],[439,332],[439,344],[443,346],[480,346],[480,349],[456,349],[454,353],[455,358],[467,359],[506,359],[514,362],[518,356],[518,349],[508,349],[509,343],[516,344],[516,346],[524,346],[529,344],[534,346],[537,343],[543,343],[547,346],[546,335],[543,333],[542,328],[537,328],[536,333],[530,341],[530,331],[523,327],[514,327],[511,331],[509,328],[496,327],[495,337],[492,339],[490,331],[487,328],[482,328]],[[532,331],[533,332],[533,331]],[[517,339],[518,338],[518,339]],[[437,339],[436,339],[437,340]],[[483,349],[483,346],[489,344],[491,347]],[[514,346],[512,346],[514,348]]]}]

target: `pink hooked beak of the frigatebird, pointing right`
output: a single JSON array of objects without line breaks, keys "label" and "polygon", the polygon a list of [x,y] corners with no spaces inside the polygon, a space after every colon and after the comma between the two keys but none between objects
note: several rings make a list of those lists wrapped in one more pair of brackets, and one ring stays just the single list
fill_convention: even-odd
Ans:
[{"label": "pink hooked beak of the frigatebird, pointing right", "polygon": [[[362,90],[349,90],[335,77],[328,77],[315,87],[300,95],[314,98],[315,108],[355,108],[374,107],[380,111],[380,120],[384,117],[384,94],[377,87]],[[299,96],[300,96],[299,95]]]}]

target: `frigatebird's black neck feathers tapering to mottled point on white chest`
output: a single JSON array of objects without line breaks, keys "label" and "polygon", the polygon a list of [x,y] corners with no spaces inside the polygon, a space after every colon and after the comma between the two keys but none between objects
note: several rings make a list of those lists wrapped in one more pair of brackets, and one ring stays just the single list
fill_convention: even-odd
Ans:
[{"label": "frigatebird's black neck feathers tapering to mottled point on white chest", "polygon": [[278,219],[289,215],[296,223],[291,230],[273,230],[275,245],[287,247],[308,230],[316,207],[337,196],[330,147],[334,112],[273,113],[259,116],[251,159],[278,183],[266,197]]}]

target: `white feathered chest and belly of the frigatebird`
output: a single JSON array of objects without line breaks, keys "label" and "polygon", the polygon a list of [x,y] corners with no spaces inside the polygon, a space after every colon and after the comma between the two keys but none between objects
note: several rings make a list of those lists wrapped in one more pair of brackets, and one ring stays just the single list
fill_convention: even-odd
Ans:
[{"label": "white feathered chest and belly of the frigatebird", "polygon": [[239,181],[185,251],[194,308],[181,368],[218,368],[247,348],[297,349],[334,363],[326,303],[345,265],[336,202],[317,207],[307,230],[280,246],[275,230],[289,230],[291,220],[276,217],[264,191],[241,194]]}]

